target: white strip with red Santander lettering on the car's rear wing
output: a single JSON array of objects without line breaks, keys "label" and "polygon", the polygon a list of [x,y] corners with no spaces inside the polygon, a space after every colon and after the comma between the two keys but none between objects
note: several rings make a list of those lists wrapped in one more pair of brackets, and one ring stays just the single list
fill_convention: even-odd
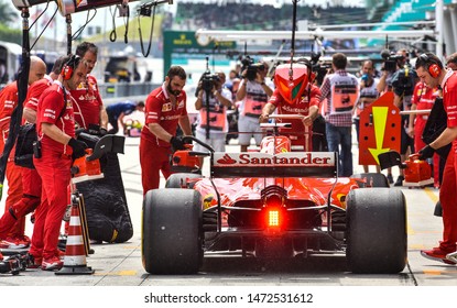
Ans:
[{"label": "white strip with red Santander lettering on the car's rear wing", "polygon": [[215,153],[217,167],[290,167],[335,166],[333,152],[286,152],[276,155],[266,153]]}]

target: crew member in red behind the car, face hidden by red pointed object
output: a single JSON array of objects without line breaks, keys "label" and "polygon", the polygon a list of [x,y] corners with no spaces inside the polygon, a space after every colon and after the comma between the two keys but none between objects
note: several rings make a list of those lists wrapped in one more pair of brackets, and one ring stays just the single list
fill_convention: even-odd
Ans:
[{"label": "crew member in red behind the car, face hidden by red pointed object", "polygon": [[[312,151],[313,150],[313,121],[318,116],[320,106],[320,89],[313,85],[313,74],[311,64],[302,61],[307,67],[308,80],[307,86],[303,95],[295,99],[292,103],[287,102],[280,92],[280,87],[276,85],[273,95],[269,102],[263,107],[262,114],[259,118],[259,122],[266,122],[270,114],[278,108],[279,114],[302,114],[305,116],[300,119],[278,119],[279,122],[291,123],[291,129],[282,129],[282,133],[294,132],[290,134],[292,147],[297,151]],[[296,134],[300,132],[300,135]]]}]

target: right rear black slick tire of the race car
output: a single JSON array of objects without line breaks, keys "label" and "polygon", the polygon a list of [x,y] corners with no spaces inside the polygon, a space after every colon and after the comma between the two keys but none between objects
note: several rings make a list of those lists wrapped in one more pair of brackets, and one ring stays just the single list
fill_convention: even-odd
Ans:
[{"label": "right rear black slick tire of the race car", "polygon": [[346,257],[353,273],[403,271],[406,245],[406,202],[401,190],[364,188],[348,194]]}]

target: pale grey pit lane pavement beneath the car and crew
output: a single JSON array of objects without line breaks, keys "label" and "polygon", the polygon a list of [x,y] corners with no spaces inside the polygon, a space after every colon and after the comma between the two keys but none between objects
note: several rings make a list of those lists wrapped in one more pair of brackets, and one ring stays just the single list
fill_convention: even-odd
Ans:
[{"label": "pale grey pit lane pavement beneath the car and crew", "polygon": [[[261,263],[254,258],[241,260],[236,255],[209,254],[204,267],[196,275],[156,276],[148,274],[141,263],[141,207],[142,187],[139,163],[139,139],[126,140],[126,154],[119,155],[123,184],[132,219],[134,234],[120,244],[93,245],[95,254],[87,257],[87,265],[95,270],[94,275],[57,276],[52,272],[28,270],[20,275],[0,274],[1,286],[455,286],[457,266],[426,260],[420,255],[421,249],[433,248],[442,237],[442,220],[433,216],[438,190],[402,189],[407,201],[409,264],[396,275],[355,275],[348,272],[344,255],[313,256],[291,262]],[[237,141],[232,140],[227,152],[238,152]],[[358,148],[353,145],[355,170]],[[206,164],[206,174],[207,174]],[[204,173],[205,173],[204,172]],[[393,169],[394,178],[398,168]],[[162,182],[163,186],[163,182]],[[4,191],[7,188],[4,188]],[[0,204],[0,213],[4,208]],[[29,218],[28,218],[29,222]],[[28,223],[26,234],[33,226]],[[393,241],[395,239],[392,239]],[[377,261],[373,260],[373,263]]]}]

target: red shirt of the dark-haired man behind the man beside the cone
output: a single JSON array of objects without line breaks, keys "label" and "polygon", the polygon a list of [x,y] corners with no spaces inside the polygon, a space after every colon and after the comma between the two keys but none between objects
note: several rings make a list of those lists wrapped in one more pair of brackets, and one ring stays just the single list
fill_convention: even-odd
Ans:
[{"label": "red shirt of the dark-haired man behind the man beside the cone", "polygon": [[100,124],[100,108],[104,102],[94,76],[88,75],[86,82],[80,82],[76,90],[72,90],[72,97],[78,128],[87,129],[89,124]]}]

